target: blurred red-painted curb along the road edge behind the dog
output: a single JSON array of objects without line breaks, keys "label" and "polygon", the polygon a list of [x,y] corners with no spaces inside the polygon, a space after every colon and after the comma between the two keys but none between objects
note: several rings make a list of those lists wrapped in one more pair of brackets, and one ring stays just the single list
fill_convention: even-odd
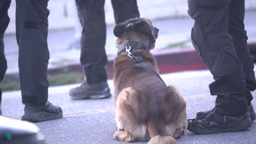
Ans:
[{"label": "blurred red-painted curb along the road edge behind the dog", "polygon": [[[256,63],[256,43],[248,44],[248,48],[251,52],[253,62]],[[153,51],[152,54],[156,58],[160,74],[208,69],[194,48]],[[108,79],[113,79],[113,64],[114,57],[108,57],[108,64],[106,66]],[[63,69],[68,69],[69,72],[83,73],[80,63],[71,63],[62,67],[48,69],[48,74],[62,73]],[[6,74],[5,79],[19,79],[19,73]]]}]

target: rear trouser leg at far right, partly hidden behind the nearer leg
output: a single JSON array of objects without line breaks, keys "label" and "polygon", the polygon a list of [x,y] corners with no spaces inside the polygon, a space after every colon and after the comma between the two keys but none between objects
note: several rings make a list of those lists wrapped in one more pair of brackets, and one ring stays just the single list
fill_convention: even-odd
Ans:
[{"label": "rear trouser leg at far right, partly hidden behind the nearer leg", "polygon": [[255,75],[253,71],[253,61],[247,46],[247,35],[245,25],[245,0],[233,0],[229,7],[229,34],[233,38],[236,55],[241,61],[243,74],[246,80],[246,98],[248,105],[253,99],[250,91],[256,88]]}]

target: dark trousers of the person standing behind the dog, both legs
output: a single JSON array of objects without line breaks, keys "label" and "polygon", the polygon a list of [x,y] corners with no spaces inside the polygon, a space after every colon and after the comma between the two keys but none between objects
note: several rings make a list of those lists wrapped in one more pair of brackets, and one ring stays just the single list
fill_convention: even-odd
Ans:
[{"label": "dark trousers of the person standing behind the dog, both legs", "polygon": [[[107,80],[108,62],[106,51],[106,22],[104,0],[76,0],[78,16],[83,31],[81,37],[80,63],[83,65],[86,82],[97,83]],[[139,17],[136,0],[112,0],[115,23]]]}]

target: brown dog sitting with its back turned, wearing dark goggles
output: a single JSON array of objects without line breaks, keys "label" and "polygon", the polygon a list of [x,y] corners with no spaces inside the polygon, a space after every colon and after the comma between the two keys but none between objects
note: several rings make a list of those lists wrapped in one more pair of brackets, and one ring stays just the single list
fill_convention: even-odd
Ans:
[{"label": "brown dog sitting with its back turned, wearing dark goggles", "polygon": [[[187,127],[186,103],[173,86],[166,86],[152,71],[127,56],[141,57],[157,73],[149,53],[158,37],[158,28],[147,19],[135,18],[114,28],[118,56],[114,61],[115,121],[113,139],[126,142],[176,143]],[[130,55],[131,56],[131,55]]]}]

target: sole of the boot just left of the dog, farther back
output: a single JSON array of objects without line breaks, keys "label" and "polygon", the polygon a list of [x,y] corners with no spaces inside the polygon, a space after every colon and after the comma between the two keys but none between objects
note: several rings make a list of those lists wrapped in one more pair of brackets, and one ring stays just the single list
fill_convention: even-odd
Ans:
[{"label": "sole of the boot just left of the dog, farther back", "polygon": [[70,95],[70,98],[72,100],[79,100],[79,99],[103,99],[103,98],[109,98],[111,97],[111,94],[109,92],[107,93],[82,93],[77,95]]}]

